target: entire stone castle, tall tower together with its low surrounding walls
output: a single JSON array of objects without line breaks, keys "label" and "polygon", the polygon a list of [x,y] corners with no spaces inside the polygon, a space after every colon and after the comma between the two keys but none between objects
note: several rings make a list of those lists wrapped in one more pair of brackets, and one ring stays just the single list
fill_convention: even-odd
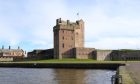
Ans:
[{"label": "entire stone castle, tall tower together with its low surrounding walls", "polygon": [[97,50],[84,47],[84,21],[56,20],[54,48],[28,52],[30,59],[140,60],[140,50]]}]

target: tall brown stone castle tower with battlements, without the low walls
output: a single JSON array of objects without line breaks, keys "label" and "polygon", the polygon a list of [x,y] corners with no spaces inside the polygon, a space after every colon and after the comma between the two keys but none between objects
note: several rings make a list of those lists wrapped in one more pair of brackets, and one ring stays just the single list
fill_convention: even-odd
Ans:
[{"label": "tall brown stone castle tower with battlements, without the low walls", "polygon": [[75,47],[84,47],[84,22],[56,20],[54,31],[54,58],[73,58]]}]

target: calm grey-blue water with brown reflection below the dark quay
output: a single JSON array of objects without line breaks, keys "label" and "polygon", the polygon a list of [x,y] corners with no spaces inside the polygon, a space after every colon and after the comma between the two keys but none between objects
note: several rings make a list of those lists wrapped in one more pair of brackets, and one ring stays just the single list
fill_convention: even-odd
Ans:
[{"label": "calm grey-blue water with brown reflection below the dark quay", "polygon": [[0,84],[111,84],[111,70],[0,68]]}]

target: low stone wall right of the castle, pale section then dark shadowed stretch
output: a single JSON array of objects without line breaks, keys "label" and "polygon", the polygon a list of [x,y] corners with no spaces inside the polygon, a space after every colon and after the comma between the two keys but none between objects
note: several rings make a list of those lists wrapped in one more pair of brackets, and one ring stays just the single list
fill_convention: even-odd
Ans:
[{"label": "low stone wall right of the castle, pale section then dark shadowed stretch", "polygon": [[96,50],[96,60],[140,60],[139,50]]}]

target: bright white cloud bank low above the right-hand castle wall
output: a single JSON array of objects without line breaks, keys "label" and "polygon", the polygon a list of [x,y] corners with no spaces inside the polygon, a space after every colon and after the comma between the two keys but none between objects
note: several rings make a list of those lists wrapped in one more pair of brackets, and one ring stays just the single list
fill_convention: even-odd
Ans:
[{"label": "bright white cloud bank low above the right-hand castle wall", "polygon": [[139,49],[140,38],[102,38],[96,42],[86,42],[86,46],[97,49]]}]

